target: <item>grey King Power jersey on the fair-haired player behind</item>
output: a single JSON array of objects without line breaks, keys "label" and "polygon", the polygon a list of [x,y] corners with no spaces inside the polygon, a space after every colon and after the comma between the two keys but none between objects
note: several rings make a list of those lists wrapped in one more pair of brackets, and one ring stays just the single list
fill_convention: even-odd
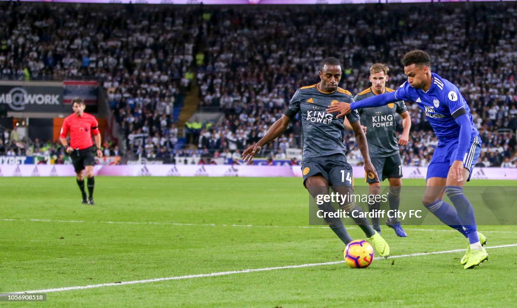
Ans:
[{"label": "grey King Power jersey on the fair-haired player behind", "polygon": [[[387,92],[393,92],[386,88]],[[368,88],[354,97],[355,101],[375,96],[372,88]],[[399,152],[397,142],[395,113],[407,111],[403,101],[389,103],[385,106],[361,108],[357,110],[361,116],[361,125],[366,126],[366,140],[370,157],[387,157]]]}]

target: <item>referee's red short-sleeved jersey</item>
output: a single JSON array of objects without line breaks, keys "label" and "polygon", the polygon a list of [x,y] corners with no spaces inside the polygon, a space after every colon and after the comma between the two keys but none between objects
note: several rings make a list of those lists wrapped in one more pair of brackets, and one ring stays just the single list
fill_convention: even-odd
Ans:
[{"label": "referee's red short-sleeved jersey", "polygon": [[83,112],[83,115],[79,117],[72,113],[65,118],[60,137],[66,138],[70,131],[70,146],[82,150],[94,145],[92,134],[99,134],[98,126],[99,123],[93,115]]}]

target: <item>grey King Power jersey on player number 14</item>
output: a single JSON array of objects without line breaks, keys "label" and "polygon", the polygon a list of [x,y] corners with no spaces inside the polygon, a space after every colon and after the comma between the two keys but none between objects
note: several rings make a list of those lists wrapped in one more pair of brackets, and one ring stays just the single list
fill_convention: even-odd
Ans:
[{"label": "grey King Power jersey on player number 14", "polygon": [[[343,144],[345,126],[337,113],[329,114],[326,109],[332,103],[352,103],[352,94],[339,88],[333,93],[324,93],[317,85],[299,88],[287,106],[284,114],[290,118],[300,114],[302,128],[302,158],[346,153]],[[356,111],[346,115],[351,123],[359,120]]]}]

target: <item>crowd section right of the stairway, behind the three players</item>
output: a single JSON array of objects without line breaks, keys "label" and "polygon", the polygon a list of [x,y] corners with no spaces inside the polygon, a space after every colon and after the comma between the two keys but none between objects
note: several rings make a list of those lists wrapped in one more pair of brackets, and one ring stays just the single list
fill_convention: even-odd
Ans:
[{"label": "crowd section right of the stairway, behind the three players", "polygon": [[[202,109],[215,107],[225,113],[223,123],[213,130],[223,148],[226,140],[226,147],[235,149],[235,145],[244,148],[260,139],[281,115],[295,89],[317,82],[317,65],[327,55],[329,42],[338,42],[332,43],[332,52],[343,63],[341,87],[352,93],[370,86],[368,69],[374,61],[389,64],[389,87],[398,87],[405,81],[399,63],[402,54],[412,48],[427,50],[436,63],[433,71],[457,83],[470,104],[474,122],[482,132],[483,164],[499,166],[505,158],[514,163],[515,5],[505,7],[505,13],[497,5],[376,9],[375,16],[372,10],[360,7],[312,14],[294,9],[289,13],[291,18],[281,10],[219,12],[218,26],[208,37],[208,64],[199,69],[197,78]],[[338,18],[343,26],[337,32],[318,32],[317,25]],[[423,112],[416,104],[408,106],[413,133],[409,144],[401,147],[401,155],[407,165],[425,166],[437,140],[429,137],[432,133]],[[282,157],[285,148],[300,147],[299,134],[295,122],[264,154]],[[246,136],[247,143],[232,142],[235,137]],[[361,160],[350,132],[345,140],[349,158]]]}]

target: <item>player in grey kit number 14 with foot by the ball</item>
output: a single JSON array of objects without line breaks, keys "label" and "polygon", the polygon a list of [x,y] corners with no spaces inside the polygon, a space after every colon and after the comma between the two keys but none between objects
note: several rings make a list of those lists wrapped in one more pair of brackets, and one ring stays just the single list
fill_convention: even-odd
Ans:
[{"label": "player in grey kit number 14 with foot by the ball", "polygon": [[[296,91],[291,102],[280,119],[271,125],[266,135],[242,153],[244,161],[250,161],[261,147],[279,137],[296,114],[300,115],[302,126],[302,162],[303,185],[316,198],[329,193],[329,186],[336,193],[345,197],[353,193],[352,166],[346,161],[343,134],[343,120],[336,114],[326,112],[329,104],[339,101],[353,102],[349,91],[338,87],[341,80],[341,63],[337,58],[325,58],[320,66],[320,79],[317,84],[301,87]],[[357,144],[364,158],[364,171],[377,178],[375,168],[370,162],[366,136],[359,124],[357,112],[346,116],[351,123]],[[346,212],[362,210],[347,198],[341,209]],[[330,202],[318,204],[324,213],[336,212]],[[325,216],[325,221],[344,244],[352,241],[339,218]],[[353,217],[354,222],[363,230],[368,240],[379,255],[387,257],[389,245],[369,224],[366,218]]]}]

